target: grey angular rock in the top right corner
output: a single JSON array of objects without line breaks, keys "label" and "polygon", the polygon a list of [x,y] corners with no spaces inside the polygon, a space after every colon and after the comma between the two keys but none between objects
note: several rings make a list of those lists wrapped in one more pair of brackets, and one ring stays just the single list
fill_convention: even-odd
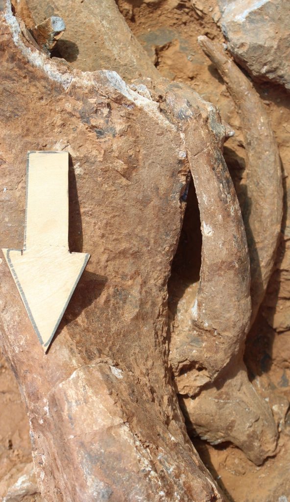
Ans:
[{"label": "grey angular rock in the top right corner", "polygon": [[290,89],[287,0],[219,0],[222,31],[236,61],[253,77]]}]

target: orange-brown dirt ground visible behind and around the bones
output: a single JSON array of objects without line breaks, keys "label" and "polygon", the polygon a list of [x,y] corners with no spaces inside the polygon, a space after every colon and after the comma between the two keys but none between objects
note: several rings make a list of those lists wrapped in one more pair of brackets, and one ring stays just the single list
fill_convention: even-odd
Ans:
[{"label": "orange-brown dirt ground visible behind and around the bones", "polygon": [[[220,12],[216,0],[118,0],[118,7],[130,29],[154,61],[158,70],[171,80],[186,82],[204,99],[221,110],[222,118],[230,124],[235,136],[225,146],[224,154],[232,177],[238,187],[245,168],[245,148],[239,114],[216,70],[210,64],[197,43],[199,35],[227,43],[218,26]],[[279,55],[282,58],[283,55]],[[86,61],[70,61],[76,67],[89,65]],[[273,82],[254,82],[255,88],[267,107],[279,147],[283,166],[284,216],[281,243],[277,253],[267,295],[257,320],[248,336],[245,352],[249,377],[256,391],[269,402],[279,428],[279,442],[275,456],[257,467],[245,455],[229,444],[211,446],[198,438],[193,442],[214,478],[234,502],[288,502],[290,500],[290,214],[288,197],[290,188],[290,95]],[[265,166],[266,168],[266,166]],[[189,204],[197,211],[194,190],[190,191]],[[267,201],[264,201],[266,204]],[[169,285],[170,302],[174,311],[178,289],[192,291],[195,296],[200,264],[201,234],[198,227],[187,238],[189,217],[185,218],[180,246],[173,263]],[[194,244],[194,245],[193,245]],[[191,252],[192,251],[192,252]],[[188,262],[181,257],[188,256]],[[188,297],[187,297],[188,299]],[[0,358],[0,497],[7,495],[5,486],[11,486],[22,476],[23,469],[31,462],[29,424],[21,402],[13,373],[4,358]],[[23,477],[24,476],[24,477]],[[1,485],[0,485],[1,486]],[[33,482],[23,498],[9,495],[13,500],[40,500]],[[15,493],[17,489],[15,490]]]}]

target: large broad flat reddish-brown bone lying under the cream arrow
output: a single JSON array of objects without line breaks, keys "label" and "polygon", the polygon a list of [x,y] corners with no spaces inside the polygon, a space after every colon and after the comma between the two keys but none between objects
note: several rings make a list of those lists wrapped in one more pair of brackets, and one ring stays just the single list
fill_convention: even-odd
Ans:
[{"label": "large broad flat reddish-brown bone lying under the cream arrow", "polygon": [[223,500],[186,434],[168,368],[184,137],[116,73],[71,71],[30,46],[10,3],[0,6],[0,244],[23,244],[27,151],[66,150],[69,245],[91,254],[46,355],[0,263],[0,342],[26,404],[42,495]]}]

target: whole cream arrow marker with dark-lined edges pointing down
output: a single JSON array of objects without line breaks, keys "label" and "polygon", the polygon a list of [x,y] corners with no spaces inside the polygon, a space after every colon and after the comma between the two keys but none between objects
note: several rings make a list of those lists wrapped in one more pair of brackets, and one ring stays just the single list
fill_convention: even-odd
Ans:
[{"label": "whole cream arrow marker with dark-lined edges pointing down", "polygon": [[28,152],[24,249],[4,256],[44,351],[90,258],[68,248],[68,153]]}]

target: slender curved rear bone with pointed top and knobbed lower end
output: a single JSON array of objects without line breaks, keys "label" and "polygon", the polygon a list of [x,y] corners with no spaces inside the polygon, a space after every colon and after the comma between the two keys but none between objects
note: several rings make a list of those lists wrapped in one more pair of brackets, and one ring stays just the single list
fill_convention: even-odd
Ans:
[{"label": "slender curved rear bone with pointed top and knobbed lower end", "polygon": [[[282,186],[279,155],[266,111],[248,79],[207,37],[199,37],[199,43],[223,77],[240,110],[245,134],[247,198],[243,213],[251,264],[252,323],[272,271],[280,231]],[[202,214],[204,202],[200,199],[199,205]],[[232,238],[235,239],[234,233]],[[228,294],[227,288],[225,292]],[[236,311],[232,311],[229,326],[235,319]],[[192,375],[191,371],[186,371],[177,377],[177,382],[179,392],[188,395],[183,398],[183,406],[195,433],[212,443],[230,440],[253,462],[260,464],[266,456],[274,453],[277,432],[269,408],[248,381],[242,361],[243,341],[244,337],[241,337],[236,346],[239,357],[233,357],[228,368],[213,384],[205,385],[195,399],[190,397],[195,392],[195,372]],[[186,353],[186,350],[181,351],[183,358]]]}]

